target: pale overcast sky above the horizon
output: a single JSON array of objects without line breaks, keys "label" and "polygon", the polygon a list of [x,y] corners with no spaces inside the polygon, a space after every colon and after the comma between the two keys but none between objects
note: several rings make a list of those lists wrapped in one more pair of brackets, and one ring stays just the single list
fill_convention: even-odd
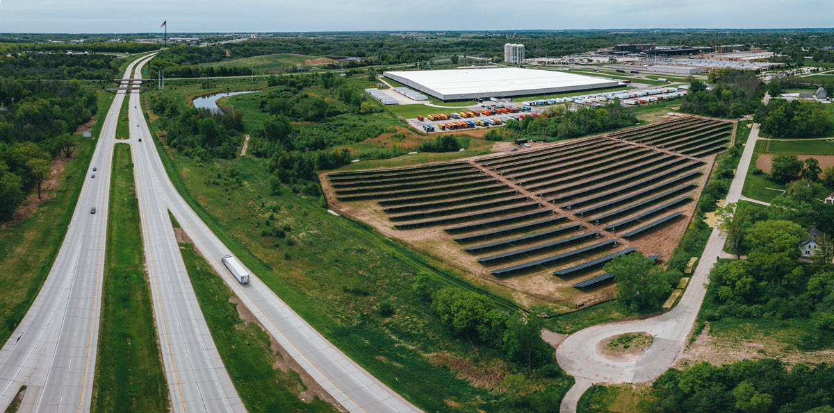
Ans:
[{"label": "pale overcast sky above the horizon", "polygon": [[832,0],[0,0],[0,32],[831,27]]}]

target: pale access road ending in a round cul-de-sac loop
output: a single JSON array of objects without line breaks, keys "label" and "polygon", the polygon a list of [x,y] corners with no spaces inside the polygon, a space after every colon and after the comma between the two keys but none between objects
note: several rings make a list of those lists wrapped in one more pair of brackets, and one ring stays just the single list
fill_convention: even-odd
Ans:
[{"label": "pale access road ending in a round cul-de-sac loop", "polygon": [[[759,125],[754,124],[741,154],[736,177],[733,178],[727,193],[727,203],[738,202],[741,197],[741,188],[744,186],[758,135]],[[672,366],[695,324],[701,302],[706,295],[707,275],[715,265],[717,257],[721,255],[725,241],[726,237],[721,236],[718,229],[712,231],[701,260],[692,274],[689,287],[671,311],[646,320],[591,326],[568,336],[562,342],[556,349],[556,360],[562,369],[576,377],[576,385],[562,401],[561,411],[575,411],[576,402],[593,383],[653,381]],[[615,362],[596,353],[597,344],[605,338],[638,331],[648,332],[655,336],[655,340],[635,361]]]}]

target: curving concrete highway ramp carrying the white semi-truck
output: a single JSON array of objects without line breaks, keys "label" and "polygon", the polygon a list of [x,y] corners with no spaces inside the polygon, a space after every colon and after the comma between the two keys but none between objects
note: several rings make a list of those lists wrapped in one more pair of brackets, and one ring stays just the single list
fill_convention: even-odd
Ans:
[{"label": "curving concrete highway ramp carrying the white semi-truck", "polygon": [[[137,108],[131,105],[130,110],[131,127],[143,137],[141,144],[134,144],[137,149],[134,155],[137,169],[147,172],[139,174],[137,182],[143,187],[153,187],[159,202],[165,200],[167,207],[191,237],[198,251],[214,267],[214,271],[224,278],[226,284],[239,296],[244,306],[252,311],[269,334],[348,411],[419,411],[324,339],[256,275],[253,274],[249,284],[244,286],[234,279],[220,263],[221,257],[232,254],[231,251],[188,207],[168,179],[162,160],[153,145],[147,123],[141,114],[141,106]],[[148,177],[155,177],[155,180],[148,181]],[[176,248],[176,244],[172,248]],[[178,249],[172,253],[178,255]],[[170,379],[168,386],[171,386]]]}]

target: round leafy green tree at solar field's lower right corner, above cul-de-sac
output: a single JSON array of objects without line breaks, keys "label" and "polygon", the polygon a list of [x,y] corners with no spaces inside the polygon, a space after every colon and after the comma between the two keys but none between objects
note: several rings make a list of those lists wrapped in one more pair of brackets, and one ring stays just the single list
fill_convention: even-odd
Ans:
[{"label": "round leafy green tree at solar field's lower right corner, above cul-de-sac", "polygon": [[656,308],[671,291],[663,269],[647,260],[640,252],[617,256],[605,264],[605,272],[614,276],[619,291],[618,299],[631,311]]}]

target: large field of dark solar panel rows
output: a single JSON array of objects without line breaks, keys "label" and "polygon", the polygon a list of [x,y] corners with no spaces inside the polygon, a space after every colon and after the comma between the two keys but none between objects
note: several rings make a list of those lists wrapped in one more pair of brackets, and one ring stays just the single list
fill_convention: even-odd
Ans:
[{"label": "large field of dark solar panel rows", "polygon": [[395,229],[442,228],[493,276],[590,281],[614,256],[637,251],[631,242],[688,214],[703,157],[726,147],[731,130],[679,117],[468,162],[327,177],[339,201],[377,202]]}]

